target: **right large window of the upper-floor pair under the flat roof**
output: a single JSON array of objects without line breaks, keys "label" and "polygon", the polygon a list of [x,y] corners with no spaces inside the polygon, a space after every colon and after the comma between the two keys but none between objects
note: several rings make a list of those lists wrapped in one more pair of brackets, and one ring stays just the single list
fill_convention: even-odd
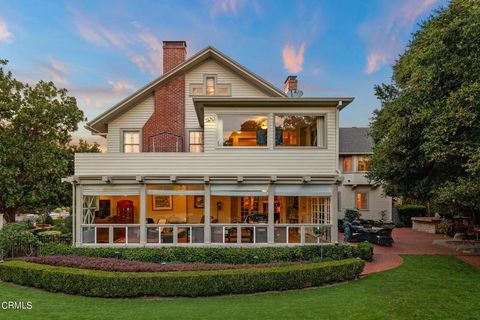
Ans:
[{"label": "right large window of the upper-floor pair under the flat roof", "polygon": [[276,115],[275,145],[299,147],[324,147],[323,116]]}]

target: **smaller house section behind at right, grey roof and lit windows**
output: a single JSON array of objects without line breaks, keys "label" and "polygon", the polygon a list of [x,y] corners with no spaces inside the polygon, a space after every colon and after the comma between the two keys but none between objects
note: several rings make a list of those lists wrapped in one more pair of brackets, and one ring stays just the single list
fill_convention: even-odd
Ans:
[{"label": "smaller house section behind at right, grey roof and lit windows", "polygon": [[339,167],[343,177],[338,187],[338,217],[357,208],[362,219],[392,221],[392,198],[365,176],[370,168],[373,141],[368,128],[340,128]]}]

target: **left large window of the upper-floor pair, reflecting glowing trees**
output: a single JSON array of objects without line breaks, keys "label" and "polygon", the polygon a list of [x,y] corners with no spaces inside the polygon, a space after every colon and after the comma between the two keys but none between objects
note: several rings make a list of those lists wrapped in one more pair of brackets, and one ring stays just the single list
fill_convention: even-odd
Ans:
[{"label": "left large window of the upper-floor pair, reflecting glowing trees", "polygon": [[268,141],[268,117],[266,115],[219,115],[218,130],[219,146],[263,147]]}]

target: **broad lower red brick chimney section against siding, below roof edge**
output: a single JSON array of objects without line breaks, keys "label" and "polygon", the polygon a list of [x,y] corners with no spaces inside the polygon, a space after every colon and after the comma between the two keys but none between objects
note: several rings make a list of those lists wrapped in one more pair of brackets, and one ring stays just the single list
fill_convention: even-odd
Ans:
[{"label": "broad lower red brick chimney section against siding, below roof edge", "polygon": [[155,109],[142,131],[143,152],[183,152],[185,75],[155,88]]}]

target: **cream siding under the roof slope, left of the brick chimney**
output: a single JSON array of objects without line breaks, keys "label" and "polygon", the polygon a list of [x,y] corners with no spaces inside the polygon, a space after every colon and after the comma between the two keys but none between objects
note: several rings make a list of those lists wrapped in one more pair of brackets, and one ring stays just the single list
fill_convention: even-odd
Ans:
[{"label": "cream siding under the roof slope, left of the brick chimney", "polygon": [[120,130],[142,129],[153,113],[153,96],[145,99],[108,124],[107,152],[120,152]]}]

